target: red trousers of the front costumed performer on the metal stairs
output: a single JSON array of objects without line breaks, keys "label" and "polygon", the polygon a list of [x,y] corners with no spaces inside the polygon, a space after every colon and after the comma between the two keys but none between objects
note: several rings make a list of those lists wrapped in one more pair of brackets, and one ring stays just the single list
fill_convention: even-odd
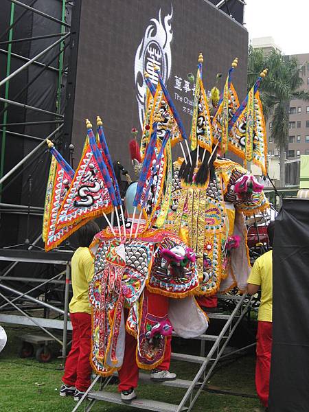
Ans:
[{"label": "red trousers of the front costumed performer on the metal stairs", "polygon": [[[158,316],[162,316],[168,312],[168,297],[149,293],[148,290],[145,290],[145,293],[148,295],[148,301],[150,302],[150,305],[154,305],[152,306],[152,308],[156,308]],[[153,309],[152,313],[154,313]],[[128,317],[128,310],[126,309],[124,316],[125,319],[126,317]],[[168,369],[170,368],[170,354],[172,352],[171,341],[172,336],[168,336],[163,362],[157,367],[157,369],[161,371],[168,371]],[[139,381],[139,367],[136,363],[136,345],[137,340],[132,335],[128,334],[128,332],[126,332],[124,361],[122,363],[122,368],[118,371],[118,390],[120,392],[137,387]]]}]

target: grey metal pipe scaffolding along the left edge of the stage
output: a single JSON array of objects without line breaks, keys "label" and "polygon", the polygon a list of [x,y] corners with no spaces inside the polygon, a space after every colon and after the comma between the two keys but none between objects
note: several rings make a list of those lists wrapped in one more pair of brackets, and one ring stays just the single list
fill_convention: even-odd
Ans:
[{"label": "grey metal pipe scaffolding along the left edge of the stage", "polygon": [[[64,59],[64,52],[65,49],[67,49],[67,47],[69,47],[70,42],[67,41],[67,38],[69,38],[69,36],[71,35],[70,32],[68,32],[67,27],[70,27],[70,25],[65,21],[66,16],[67,16],[67,2],[65,0],[60,0],[60,3],[62,5],[61,8],[61,20],[60,19],[56,19],[54,16],[50,16],[49,14],[46,14],[44,12],[42,12],[41,10],[36,10],[35,8],[33,8],[32,6],[34,5],[34,3],[36,3],[37,0],[33,0],[29,2],[29,5],[23,3],[22,1],[19,0],[8,0],[11,3],[11,19],[10,19],[10,27],[8,27],[5,32],[3,32],[0,36],[1,38],[1,42],[0,45],[8,45],[5,47],[8,47],[8,49],[1,49],[0,48],[0,53],[6,54],[8,56],[8,64],[7,64],[7,70],[6,70],[6,74],[5,74],[5,78],[3,78],[2,80],[0,80],[0,87],[4,84],[5,88],[8,88],[8,85],[10,84],[10,81],[12,79],[15,78],[16,75],[18,75],[18,73],[21,73],[21,71],[27,69],[27,67],[30,67],[30,65],[40,65],[42,67],[42,70],[37,73],[37,75],[35,76],[35,78],[32,78],[32,80],[27,83],[22,91],[19,91],[19,93],[14,96],[14,98],[9,98],[9,95],[7,93],[7,95],[1,96],[1,100],[0,102],[4,103],[4,108],[0,113],[0,116],[4,113],[3,115],[3,122],[1,124],[2,129],[1,130],[5,130],[6,133],[11,133],[14,134],[16,136],[20,136],[23,138],[30,138],[30,139],[34,139],[34,140],[38,140],[38,146],[36,146],[30,153],[28,153],[23,159],[21,159],[21,161],[19,161],[11,170],[9,170],[4,176],[2,176],[2,174],[0,174],[0,187],[2,185],[2,183],[4,181],[6,181],[10,176],[12,176],[12,174],[14,173],[15,175],[12,176],[12,179],[10,179],[10,181],[8,182],[7,185],[5,185],[4,189],[6,189],[8,186],[10,186],[11,182],[14,181],[16,179],[16,176],[18,176],[20,174],[20,170],[21,170],[21,166],[23,166],[23,168],[27,168],[27,165],[32,164],[33,161],[36,159],[36,157],[41,156],[43,154],[43,152],[45,150],[44,145],[45,145],[45,141],[47,139],[51,139],[52,137],[54,137],[56,135],[56,137],[59,137],[59,133],[62,130],[62,127],[64,125],[64,116],[61,114],[62,113],[62,108],[61,108],[61,98],[62,98],[62,93],[61,93],[61,89],[62,89],[62,76],[63,76],[63,59]],[[12,16],[12,10],[15,10],[15,14],[16,14],[16,7],[17,6],[21,6],[22,8],[24,8],[25,10],[22,11],[18,16],[16,16],[16,20],[14,21],[14,15]],[[73,6],[73,5],[72,5]],[[52,33],[48,33],[45,32],[42,33],[42,36],[32,36],[32,37],[25,37],[25,38],[17,38],[14,39],[12,36],[12,29],[14,27],[14,25],[16,25],[16,22],[21,20],[22,16],[25,15],[26,12],[30,12],[32,13],[36,13],[39,14],[43,17],[45,17],[46,19],[49,19],[51,21],[54,21],[56,23],[59,23],[60,25],[60,33],[55,33],[56,30],[53,30]],[[33,14],[32,14],[33,15]],[[9,33],[9,35],[7,35],[7,33]],[[6,38],[5,38],[6,37]],[[43,49],[40,53],[36,54],[36,56],[34,56],[33,58],[26,58],[24,56],[19,56],[18,54],[13,54],[12,53],[12,44],[14,43],[20,43],[20,42],[26,42],[26,41],[36,41],[39,39],[43,39],[43,38],[55,38],[58,37],[56,39],[56,41],[54,41],[54,43],[52,43],[51,45],[49,45],[48,47],[45,47],[45,49]],[[55,53],[55,56],[52,56],[50,58],[50,60],[47,63],[43,63],[40,62],[38,60],[40,60],[41,56],[46,55],[49,50],[53,49],[54,47],[57,47],[57,52]],[[12,73],[10,73],[10,67],[8,67],[8,65],[10,65],[10,58],[14,57],[14,58],[19,58],[21,60],[23,60],[20,64],[21,67],[19,67],[18,69],[16,69],[15,71],[13,71]],[[51,66],[52,62],[57,61],[56,59],[58,59],[58,67],[53,67]],[[48,58],[46,59],[48,60]],[[56,63],[54,63],[56,64]],[[41,74],[43,73],[43,71],[45,69],[49,69],[49,70],[53,70],[56,71],[58,73],[58,92],[56,95],[56,99],[55,99],[55,112],[53,113],[52,111],[45,111],[39,107],[34,107],[34,106],[30,106],[27,104],[23,104],[21,102],[16,102],[16,99],[19,98],[19,96],[21,95],[21,93],[23,93],[27,87],[30,86],[30,84],[32,84],[32,82],[34,82],[36,80],[36,78],[38,78],[38,76],[41,76]],[[10,96],[11,97],[11,96]],[[28,109],[28,110],[33,110],[33,111],[37,111],[38,113],[44,113],[45,115],[52,115],[54,116],[54,120],[45,120],[44,117],[42,119],[42,121],[38,121],[38,122],[19,122],[18,124],[8,124],[6,122],[7,119],[7,115],[6,112],[8,110],[8,106],[10,106],[10,104],[12,104],[13,106],[19,106],[22,107],[24,109]],[[47,117],[48,119],[49,117]],[[2,119],[1,119],[2,120]],[[55,130],[52,131],[52,133],[49,134],[49,136],[47,136],[45,139],[41,139],[40,137],[34,137],[34,136],[30,136],[30,135],[25,135],[22,133],[16,133],[16,132],[10,132],[10,130],[6,130],[6,128],[8,126],[28,126],[30,124],[34,124],[37,126],[43,125],[43,124],[55,124]],[[32,155],[34,155],[32,157]],[[32,157],[32,159],[30,159],[30,157]],[[20,170],[19,170],[20,169]],[[15,173],[17,170],[17,173]],[[1,201],[0,201],[1,202]],[[3,204],[0,203],[0,207]],[[24,207],[23,205],[10,205],[10,204],[5,204],[3,205],[3,207],[5,207],[5,211],[17,211],[18,213],[23,213],[24,211]],[[40,212],[41,209],[43,208],[37,208],[37,209],[32,209],[34,212]],[[34,244],[36,244],[36,242],[38,242],[38,240],[40,240],[41,238],[41,234],[40,236],[38,236],[38,238],[34,241]],[[32,249],[32,246],[28,247],[28,249]],[[50,262],[49,262],[50,263]],[[18,264],[18,262],[12,262],[12,264],[9,265],[8,268],[5,268],[5,271],[3,271],[3,273],[1,273],[1,277],[0,277],[0,282],[3,282],[3,280],[5,279],[10,279],[12,276],[8,277],[7,275],[10,273],[10,271],[12,271],[12,269],[16,266],[16,264]],[[56,278],[58,278],[59,275],[56,276]],[[17,281],[17,279],[21,279],[20,277],[14,277],[14,280]],[[25,279],[31,279],[31,278],[25,278]],[[53,278],[54,279],[54,278]],[[42,281],[42,279],[41,279]],[[62,356],[66,356],[67,354],[67,330],[68,330],[68,325],[69,328],[71,328],[70,322],[69,322],[69,287],[70,287],[70,266],[69,263],[67,262],[66,264],[66,279],[64,280],[58,280],[58,279],[54,279],[54,282],[57,283],[64,283],[65,282],[65,308],[64,310],[62,310],[62,308],[56,308],[52,305],[49,305],[47,302],[43,302],[39,299],[35,299],[34,297],[31,296],[31,291],[35,290],[37,288],[41,288],[42,284],[48,283],[48,282],[53,282],[52,279],[43,279],[43,283],[42,282],[38,282],[39,284],[37,286],[35,286],[34,288],[32,288],[30,291],[28,291],[27,293],[21,293],[17,290],[14,290],[12,288],[9,288],[6,285],[3,285],[3,283],[0,283],[0,290],[1,290],[1,297],[3,297],[3,299],[6,301],[6,303],[4,303],[4,306],[7,305],[11,305],[12,308],[14,308],[14,310],[19,310],[19,312],[21,312],[21,314],[23,314],[23,317],[19,316],[19,318],[23,318],[23,321],[25,321],[25,323],[27,324],[32,324],[34,323],[34,325],[38,326],[38,328],[41,328],[42,330],[44,330],[47,334],[49,334],[50,336],[52,336],[54,339],[56,339],[56,341],[58,341],[58,343],[60,343],[62,345]],[[5,291],[7,293],[14,293],[15,296],[14,299],[10,299],[10,297],[5,297]],[[20,304],[14,304],[14,301],[18,300],[20,301],[20,299],[26,299],[27,301],[32,301],[36,304],[36,306],[40,307],[43,306],[45,308],[49,308],[52,310],[56,310],[59,314],[61,314],[61,317],[63,315],[64,320],[62,321],[57,321],[58,323],[62,323],[63,328],[61,326],[61,329],[63,330],[63,334],[62,334],[62,342],[56,338],[53,334],[51,334],[50,332],[48,332],[48,330],[46,328],[53,328],[52,326],[52,319],[46,319],[46,322],[41,322],[41,319],[36,319],[36,318],[32,318],[30,317],[26,312],[23,311],[23,308],[20,307]],[[3,306],[3,305],[2,305]],[[6,308],[5,308],[6,310]],[[1,319],[3,320],[3,317],[5,317],[5,314],[1,314]],[[42,321],[44,321],[44,319],[42,319]],[[47,322],[49,321],[49,322]],[[55,321],[56,322],[56,321]],[[57,328],[59,327],[59,325],[57,326]]]}]

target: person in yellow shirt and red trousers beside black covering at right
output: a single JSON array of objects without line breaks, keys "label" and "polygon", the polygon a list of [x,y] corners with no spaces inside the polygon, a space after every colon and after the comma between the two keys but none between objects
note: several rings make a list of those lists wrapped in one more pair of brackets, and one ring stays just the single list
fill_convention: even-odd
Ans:
[{"label": "person in yellow shirt and red trousers beside black covering at right", "polygon": [[[267,227],[269,243],[273,246],[275,222]],[[273,251],[260,256],[248,278],[248,293],[254,295],[261,288],[256,344],[255,386],[260,401],[268,410],[269,374],[271,371],[271,346],[273,343]]]}]

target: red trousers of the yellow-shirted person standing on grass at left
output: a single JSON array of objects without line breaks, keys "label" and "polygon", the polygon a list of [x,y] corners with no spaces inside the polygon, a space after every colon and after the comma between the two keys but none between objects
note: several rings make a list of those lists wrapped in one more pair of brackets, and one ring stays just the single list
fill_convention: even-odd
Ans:
[{"label": "red trousers of the yellow-shirted person standing on grass at left", "polygon": [[71,313],[71,322],[72,346],[65,361],[62,382],[68,386],[75,386],[79,391],[86,391],[91,384],[91,314]]}]

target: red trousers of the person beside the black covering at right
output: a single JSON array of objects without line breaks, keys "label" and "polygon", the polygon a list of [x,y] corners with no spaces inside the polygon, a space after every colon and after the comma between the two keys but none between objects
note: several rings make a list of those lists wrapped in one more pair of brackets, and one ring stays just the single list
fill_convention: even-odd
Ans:
[{"label": "red trousers of the person beside the black covering at right", "polygon": [[273,343],[273,323],[258,321],[256,343],[255,386],[260,401],[268,407],[269,375],[271,372],[271,345]]}]

